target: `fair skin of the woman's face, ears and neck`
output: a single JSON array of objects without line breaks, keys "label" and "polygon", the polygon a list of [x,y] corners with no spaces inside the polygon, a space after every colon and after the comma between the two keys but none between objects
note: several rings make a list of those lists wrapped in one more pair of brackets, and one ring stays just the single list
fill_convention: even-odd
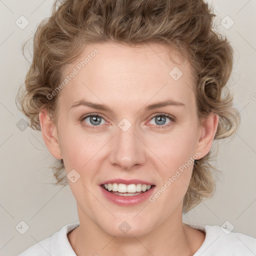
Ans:
[{"label": "fair skin of the woman's face, ears and neck", "polygon": [[[157,191],[196,152],[199,159],[210,150],[218,117],[211,113],[199,125],[191,66],[170,50],[172,59],[179,61],[173,62],[163,45],[88,44],[63,74],[70,74],[95,48],[99,52],[59,92],[57,124],[44,110],[39,114],[50,153],[63,158],[66,174],[75,169],[80,175],[74,183],[68,180],[80,222],[68,233],[69,242],[77,255],[192,255],[205,237],[182,223],[182,200],[193,164],[154,202],[116,205],[105,199],[99,184],[107,179],[138,178],[155,184]],[[169,75],[174,67],[183,73],[178,80]],[[113,112],[88,106],[70,109],[80,99],[105,104]],[[167,99],[184,106],[142,110]],[[99,125],[89,117],[80,120],[90,113],[103,116],[97,119]],[[153,117],[161,113],[175,121]],[[123,118],[131,124],[126,131],[118,126]],[[118,228],[123,221],[131,226],[125,234]]]}]

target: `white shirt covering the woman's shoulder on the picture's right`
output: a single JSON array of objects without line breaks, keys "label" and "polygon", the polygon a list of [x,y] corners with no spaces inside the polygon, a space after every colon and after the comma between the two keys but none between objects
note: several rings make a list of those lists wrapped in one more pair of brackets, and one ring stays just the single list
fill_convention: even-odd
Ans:
[{"label": "white shirt covering the woman's shoulder on the picture's right", "polygon": [[218,225],[186,225],[205,232],[205,239],[193,256],[256,255],[256,239],[251,236],[239,232],[231,232]]}]

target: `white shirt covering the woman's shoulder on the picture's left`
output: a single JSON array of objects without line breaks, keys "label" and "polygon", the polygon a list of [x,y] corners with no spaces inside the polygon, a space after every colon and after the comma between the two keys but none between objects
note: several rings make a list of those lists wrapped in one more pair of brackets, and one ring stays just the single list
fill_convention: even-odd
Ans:
[{"label": "white shirt covering the woman's shoulder on the picture's left", "polygon": [[75,253],[68,241],[67,233],[79,225],[79,222],[70,223],[63,226],[51,236],[36,242],[18,256],[48,256],[48,255],[70,255]]}]

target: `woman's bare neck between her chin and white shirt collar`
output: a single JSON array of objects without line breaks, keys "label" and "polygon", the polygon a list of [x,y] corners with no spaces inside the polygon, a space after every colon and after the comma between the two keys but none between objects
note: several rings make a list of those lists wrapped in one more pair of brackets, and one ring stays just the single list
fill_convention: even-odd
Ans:
[{"label": "woman's bare neck between her chin and white shirt collar", "polygon": [[68,233],[68,239],[78,256],[193,255],[205,237],[202,231],[183,224],[179,212],[146,234],[127,232],[117,236],[105,232],[91,218],[83,215],[79,207],[77,209],[80,225]]}]

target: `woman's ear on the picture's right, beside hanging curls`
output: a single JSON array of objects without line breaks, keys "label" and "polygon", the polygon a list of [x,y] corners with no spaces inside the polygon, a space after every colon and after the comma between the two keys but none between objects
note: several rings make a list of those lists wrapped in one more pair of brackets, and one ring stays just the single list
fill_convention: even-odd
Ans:
[{"label": "woman's ear on the picture's right, beside hanging curls", "polygon": [[207,118],[201,119],[201,130],[197,141],[196,150],[201,152],[198,159],[206,155],[213,143],[218,126],[218,115],[211,112]]}]

